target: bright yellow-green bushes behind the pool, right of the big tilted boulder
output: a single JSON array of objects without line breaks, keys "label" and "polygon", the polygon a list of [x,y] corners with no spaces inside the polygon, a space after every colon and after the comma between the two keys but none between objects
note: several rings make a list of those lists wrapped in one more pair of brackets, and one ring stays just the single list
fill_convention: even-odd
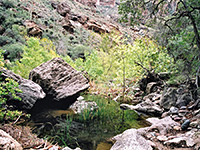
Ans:
[{"label": "bright yellow-green bushes behind the pool, right of the big tilted boulder", "polygon": [[154,41],[143,38],[130,44],[118,35],[104,35],[99,51],[85,53],[85,58],[76,59],[74,67],[85,70],[91,80],[112,80],[116,85],[123,82],[124,73],[126,79],[140,78],[145,70],[138,63],[155,72],[170,71],[173,63],[166,50]]}]

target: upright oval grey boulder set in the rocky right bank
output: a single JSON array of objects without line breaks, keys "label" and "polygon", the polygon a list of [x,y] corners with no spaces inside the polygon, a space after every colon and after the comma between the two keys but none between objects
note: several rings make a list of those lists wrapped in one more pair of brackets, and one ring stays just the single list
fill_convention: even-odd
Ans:
[{"label": "upright oval grey boulder set in the rocky right bank", "polygon": [[172,106],[175,106],[177,101],[177,91],[174,88],[168,88],[163,92],[161,97],[160,106],[166,110],[169,110]]}]

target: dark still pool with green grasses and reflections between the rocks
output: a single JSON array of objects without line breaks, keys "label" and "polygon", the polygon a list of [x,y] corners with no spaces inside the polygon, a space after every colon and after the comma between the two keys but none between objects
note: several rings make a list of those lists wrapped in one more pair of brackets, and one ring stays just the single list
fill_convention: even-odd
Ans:
[{"label": "dark still pool with green grasses and reflections between the rocks", "polygon": [[148,126],[135,111],[121,110],[114,101],[96,95],[84,95],[84,99],[96,102],[98,109],[81,114],[71,109],[46,110],[33,115],[29,124],[39,137],[81,150],[109,150],[111,137],[130,128]]}]

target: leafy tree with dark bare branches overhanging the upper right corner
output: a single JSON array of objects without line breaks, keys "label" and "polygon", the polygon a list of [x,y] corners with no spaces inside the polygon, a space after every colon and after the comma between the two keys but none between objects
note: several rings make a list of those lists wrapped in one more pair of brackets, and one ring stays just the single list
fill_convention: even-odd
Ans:
[{"label": "leafy tree with dark bare branches overhanging the upper right corner", "polygon": [[123,0],[122,21],[145,24],[156,30],[155,38],[167,47],[182,72],[194,74],[200,65],[200,0]]}]

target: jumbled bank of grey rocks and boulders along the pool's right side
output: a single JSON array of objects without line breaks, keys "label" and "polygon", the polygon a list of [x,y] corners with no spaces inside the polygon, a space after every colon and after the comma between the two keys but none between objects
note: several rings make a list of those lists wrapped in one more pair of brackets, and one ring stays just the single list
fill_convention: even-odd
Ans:
[{"label": "jumbled bank of grey rocks and boulders along the pool's right side", "polygon": [[[140,91],[136,90],[133,98],[133,103],[136,105],[120,105],[124,110],[135,110],[138,114],[157,116],[161,119],[149,118],[147,121],[151,123],[150,127],[127,130],[114,137],[113,140],[116,142],[111,150],[123,150],[124,148],[120,148],[123,147],[121,141],[131,140],[135,143],[126,145],[125,142],[124,146],[128,146],[128,149],[134,149],[134,145],[143,146],[141,150],[200,148],[200,93],[195,81],[180,85],[166,85],[161,81],[152,77],[142,79]],[[134,136],[129,136],[131,134]],[[140,141],[134,139],[135,136],[138,138],[142,136],[146,144],[142,145]],[[150,145],[150,148],[147,148],[147,145]]]}]

